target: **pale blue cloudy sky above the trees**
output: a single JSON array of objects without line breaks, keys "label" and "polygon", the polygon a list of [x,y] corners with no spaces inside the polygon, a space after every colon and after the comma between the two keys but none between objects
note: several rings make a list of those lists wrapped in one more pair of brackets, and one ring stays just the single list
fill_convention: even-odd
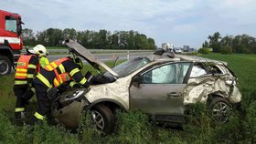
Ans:
[{"label": "pale blue cloudy sky above the trees", "polygon": [[199,48],[208,36],[256,37],[255,0],[1,0],[22,16],[24,28],[134,30],[156,46]]}]

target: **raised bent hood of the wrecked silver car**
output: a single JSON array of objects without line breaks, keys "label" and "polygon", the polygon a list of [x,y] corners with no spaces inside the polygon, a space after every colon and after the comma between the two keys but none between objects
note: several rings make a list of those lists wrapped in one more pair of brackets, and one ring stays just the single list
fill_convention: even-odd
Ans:
[{"label": "raised bent hood of the wrecked silver car", "polygon": [[101,62],[101,60],[94,55],[91,54],[91,52],[86,49],[84,46],[81,46],[78,42],[68,39],[65,40],[64,43],[69,46],[69,50],[74,52],[76,55],[83,57],[85,60],[87,60],[92,67],[100,70],[100,67],[103,67],[106,71],[110,72],[112,76],[118,77],[118,74],[112,70],[111,67],[108,67],[106,64]]}]

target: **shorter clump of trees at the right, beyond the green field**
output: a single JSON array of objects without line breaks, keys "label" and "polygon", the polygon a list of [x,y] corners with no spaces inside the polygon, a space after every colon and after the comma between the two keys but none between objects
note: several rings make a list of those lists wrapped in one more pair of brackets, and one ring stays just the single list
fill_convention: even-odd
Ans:
[{"label": "shorter clump of trees at the right, beyond the green field", "polygon": [[213,52],[216,53],[256,53],[256,38],[248,35],[238,36],[221,36],[219,32],[214,33],[212,36],[208,36],[202,47],[210,47]]}]

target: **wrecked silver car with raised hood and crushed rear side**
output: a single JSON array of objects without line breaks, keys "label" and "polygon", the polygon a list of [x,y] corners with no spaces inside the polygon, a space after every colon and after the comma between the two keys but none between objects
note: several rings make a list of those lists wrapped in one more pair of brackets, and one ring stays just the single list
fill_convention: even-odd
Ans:
[{"label": "wrecked silver car with raised hood and crushed rear side", "polygon": [[159,122],[182,123],[187,106],[198,102],[208,105],[211,118],[216,122],[225,123],[229,119],[229,108],[240,104],[237,78],[225,62],[187,56],[168,57],[161,53],[133,58],[110,68],[77,42],[69,40],[66,44],[93,67],[100,69],[101,66],[106,72],[88,77],[90,89],[62,94],[65,98],[71,95],[80,100],[53,110],[56,120],[61,123],[75,126],[80,111],[90,110],[96,128],[110,133],[114,127],[114,110],[118,108],[125,111],[139,109]]}]

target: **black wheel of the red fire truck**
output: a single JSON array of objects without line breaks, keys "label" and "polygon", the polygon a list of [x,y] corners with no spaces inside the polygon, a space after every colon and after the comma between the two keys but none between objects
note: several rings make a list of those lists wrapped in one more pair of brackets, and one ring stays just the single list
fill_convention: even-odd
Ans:
[{"label": "black wheel of the red fire truck", "polygon": [[11,72],[12,65],[8,57],[0,56],[0,75],[8,75]]}]

